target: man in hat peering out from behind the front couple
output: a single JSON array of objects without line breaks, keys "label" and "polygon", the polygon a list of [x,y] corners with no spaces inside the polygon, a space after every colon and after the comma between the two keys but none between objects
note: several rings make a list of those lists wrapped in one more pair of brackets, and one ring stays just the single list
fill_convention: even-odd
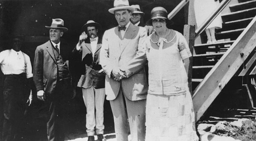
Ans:
[{"label": "man in hat peering out from behind the front couple", "polygon": [[131,23],[136,26],[145,27],[147,30],[148,35],[154,31],[153,26],[148,26],[140,22],[141,18],[144,16],[144,12],[140,11],[139,5],[131,5],[134,8],[134,12],[131,14]]}]

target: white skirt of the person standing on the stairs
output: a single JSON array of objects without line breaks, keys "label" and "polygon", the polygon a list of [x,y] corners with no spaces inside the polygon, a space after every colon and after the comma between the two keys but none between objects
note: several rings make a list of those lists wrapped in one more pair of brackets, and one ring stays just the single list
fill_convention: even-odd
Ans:
[{"label": "white skirt of the person standing on the stairs", "polygon": [[[218,8],[219,4],[220,3],[218,0],[195,0],[194,9],[197,27],[202,25],[202,23],[212,14],[212,12]],[[216,29],[222,28],[221,14],[218,14],[218,16],[215,17],[207,28],[212,27],[215,27]]]}]

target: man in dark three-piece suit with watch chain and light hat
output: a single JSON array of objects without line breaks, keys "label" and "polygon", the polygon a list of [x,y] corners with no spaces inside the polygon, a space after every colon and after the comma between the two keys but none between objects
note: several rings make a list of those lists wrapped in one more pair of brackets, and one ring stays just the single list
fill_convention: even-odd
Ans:
[{"label": "man in dark three-piece suit with watch chain and light hat", "polygon": [[[60,41],[64,32],[62,19],[52,19],[49,29],[50,40],[39,45],[35,50],[34,82],[38,99],[45,102],[48,108],[47,137],[49,141],[64,141],[61,125],[63,106],[71,98],[71,77],[68,60],[72,55],[72,48],[68,48],[64,41]],[[61,122],[62,121],[62,122]]]}]

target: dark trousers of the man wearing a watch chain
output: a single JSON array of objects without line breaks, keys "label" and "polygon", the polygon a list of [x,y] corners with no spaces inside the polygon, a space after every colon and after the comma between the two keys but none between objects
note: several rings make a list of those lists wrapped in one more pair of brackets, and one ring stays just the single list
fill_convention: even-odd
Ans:
[{"label": "dark trousers of the man wearing a watch chain", "polygon": [[49,141],[64,141],[64,115],[68,99],[71,98],[70,79],[57,82],[55,92],[46,95],[47,137]]}]

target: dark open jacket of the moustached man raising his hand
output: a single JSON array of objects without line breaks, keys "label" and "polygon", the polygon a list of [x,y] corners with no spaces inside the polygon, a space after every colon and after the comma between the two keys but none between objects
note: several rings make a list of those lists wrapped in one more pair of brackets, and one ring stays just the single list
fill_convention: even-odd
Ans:
[{"label": "dark open jacket of the moustached man raising his hand", "polygon": [[[94,56],[92,56],[92,48],[89,42],[82,42],[82,56],[81,61],[84,67],[83,73],[78,82],[78,87],[90,88],[94,86],[96,89],[105,87],[105,74],[100,75],[95,71],[102,69],[102,66],[99,64],[99,53],[102,47],[102,39],[98,39],[96,51]],[[73,54],[79,56],[79,51],[76,50],[76,47],[73,49]]]}]

